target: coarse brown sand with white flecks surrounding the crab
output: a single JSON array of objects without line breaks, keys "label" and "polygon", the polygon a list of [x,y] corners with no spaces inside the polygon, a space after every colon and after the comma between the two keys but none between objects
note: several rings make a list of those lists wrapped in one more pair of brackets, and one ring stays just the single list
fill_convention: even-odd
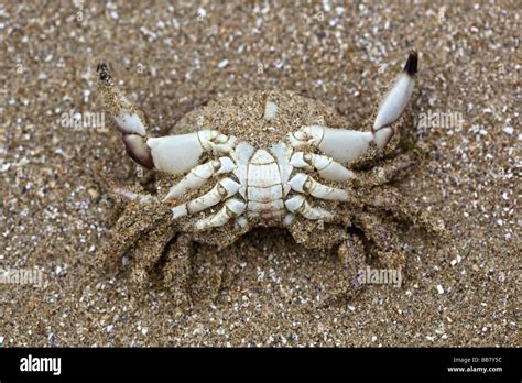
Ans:
[{"label": "coarse brown sand with white flecks surrounding the crab", "polygon": [[[0,283],[0,346],[520,346],[520,30],[515,1],[0,6],[0,267],[42,276]],[[448,238],[398,228],[401,287],[346,294],[335,251],[270,228],[197,249],[189,282],[206,298],[192,308],[99,267],[122,209],[107,183],[148,176],[109,121],[86,120],[100,61],[162,135],[250,90],[292,90],[360,127],[411,48],[425,155],[394,186]]]}]

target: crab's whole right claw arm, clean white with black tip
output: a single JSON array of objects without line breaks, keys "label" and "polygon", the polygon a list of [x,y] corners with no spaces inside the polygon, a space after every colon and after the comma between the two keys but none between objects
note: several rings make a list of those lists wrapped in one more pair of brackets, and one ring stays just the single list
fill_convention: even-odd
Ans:
[{"label": "crab's whole right claw arm, clean white with black tip", "polygon": [[289,133],[291,145],[294,149],[307,145],[316,146],[341,164],[347,164],[359,157],[369,149],[371,142],[379,149],[384,149],[393,133],[390,125],[399,120],[410,101],[416,70],[417,54],[412,52],[407,57],[403,73],[384,96],[371,132],[309,125]]}]

